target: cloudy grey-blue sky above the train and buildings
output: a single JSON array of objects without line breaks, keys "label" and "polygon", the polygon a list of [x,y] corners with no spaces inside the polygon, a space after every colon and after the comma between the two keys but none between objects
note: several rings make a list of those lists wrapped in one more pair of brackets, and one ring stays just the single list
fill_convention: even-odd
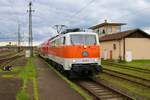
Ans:
[{"label": "cloudy grey-blue sky above the train and buildings", "polygon": [[[0,41],[16,41],[17,25],[28,36],[29,0],[0,0]],[[34,41],[44,41],[56,32],[56,24],[88,28],[109,22],[127,23],[124,29],[150,32],[149,0],[33,0]],[[82,10],[81,10],[82,9]]]}]

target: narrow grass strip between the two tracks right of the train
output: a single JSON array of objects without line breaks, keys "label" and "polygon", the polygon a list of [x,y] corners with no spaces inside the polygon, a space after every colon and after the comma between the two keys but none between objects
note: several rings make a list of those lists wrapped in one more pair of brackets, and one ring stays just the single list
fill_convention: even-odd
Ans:
[{"label": "narrow grass strip between the two tracks right of the train", "polygon": [[134,70],[130,70],[130,69],[123,69],[123,68],[118,68],[118,67],[113,67],[113,66],[104,66],[104,68],[106,69],[109,69],[109,70],[112,70],[112,71],[117,71],[117,72],[120,72],[120,73],[124,73],[124,74],[128,74],[128,75],[132,75],[132,76],[136,76],[136,77],[139,77],[139,78],[143,78],[143,79],[147,79],[147,80],[150,80],[150,74],[147,74],[147,73],[141,73],[141,72],[137,72],[137,71],[134,71]]}]

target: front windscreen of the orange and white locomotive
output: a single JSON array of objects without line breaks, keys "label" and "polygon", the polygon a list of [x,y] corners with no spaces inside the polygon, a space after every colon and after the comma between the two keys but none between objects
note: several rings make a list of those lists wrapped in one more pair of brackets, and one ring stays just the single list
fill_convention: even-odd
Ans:
[{"label": "front windscreen of the orange and white locomotive", "polygon": [[73,45],[96,45],[96,35],[90,34],[72,34],[70,41]]}]

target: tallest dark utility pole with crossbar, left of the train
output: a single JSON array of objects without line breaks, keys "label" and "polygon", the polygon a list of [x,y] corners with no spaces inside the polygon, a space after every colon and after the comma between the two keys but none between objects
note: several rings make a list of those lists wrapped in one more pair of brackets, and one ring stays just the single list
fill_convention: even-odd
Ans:
[{"label": "tallest dark utility pole with crossbar, left of the train", "polygon": [[29,2],[29,48],[30,48],[30,53],[31,57],[33,56],[33,37],[32,37],[32,1]]}]

